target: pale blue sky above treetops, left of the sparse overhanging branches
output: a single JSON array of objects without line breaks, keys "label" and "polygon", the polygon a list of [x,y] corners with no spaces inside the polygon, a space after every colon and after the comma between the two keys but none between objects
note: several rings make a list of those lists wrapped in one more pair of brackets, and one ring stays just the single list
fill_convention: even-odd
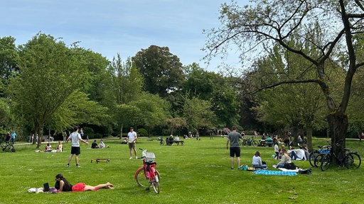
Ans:
[{"label": "pale blue sky above treetops, left of the sparse overhanging branches", "polygon": [[183,65],[193,62],[218,72],[218,64],[238,64],[237,57],[215,57],[208,66],[203,29],[219,26],[220,4],[230,0],[11,0],[1,2],[0,37],[26,43],[41,32],[107,59],[133,57],[150,45],[169,47]]}]

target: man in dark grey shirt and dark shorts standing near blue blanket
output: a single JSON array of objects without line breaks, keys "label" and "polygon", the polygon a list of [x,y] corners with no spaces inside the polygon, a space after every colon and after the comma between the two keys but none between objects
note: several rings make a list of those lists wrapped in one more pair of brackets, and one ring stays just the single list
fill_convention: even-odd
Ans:
[{"label": "man in dark grey shirt and dark shorts standing near blue blanket", "polygon": [[226,149],[228,149],[230,142],[230,169],[234,169],[234,156],[236,156],[237,169],[240,170],[240,139],[242,139],[242,135],[236,131],[236,126],[232,126],[232,132],[229,132],[228,141],[226,142]]}]

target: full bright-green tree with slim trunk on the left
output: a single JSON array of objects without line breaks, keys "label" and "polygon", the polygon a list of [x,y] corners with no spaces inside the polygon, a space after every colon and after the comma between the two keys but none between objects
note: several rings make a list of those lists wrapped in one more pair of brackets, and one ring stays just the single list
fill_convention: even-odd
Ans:
[{"label": "full bright-green tree with slim trunk on the left", "polygon": [[87,69],[77,53],[42,33],[19,47],[19,74],[11,80],[11,100],[18,117],[26,118],[40,137],[55,111],[80,88]]}]

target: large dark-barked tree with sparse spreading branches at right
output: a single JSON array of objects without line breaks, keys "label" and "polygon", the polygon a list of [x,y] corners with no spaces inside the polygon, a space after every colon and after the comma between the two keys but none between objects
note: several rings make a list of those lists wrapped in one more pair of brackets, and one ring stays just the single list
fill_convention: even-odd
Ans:
[{"label": "large dark-barked tree with sparse spreading branches at right", "polygon": [[[276,84],[262,84],[264,88],[282,83],[316,83],[321,87],[328,108],[328,125],[331,142],[336,154],[344,154],[345,137],[348,130],[346,109],[351,92],[351,82],[356,70],[364,62],[357,59],[355,35],[363,33],[364,6],[362,1],[252,1],[250,6],[241,7],[237,2],[223,4],[220,21],[222,28],[210,30],[206,49],[210,55],[226,50],[229,43],[237,45],[242,52],[254,50],[259,45],[279,44],[289,52],[301,55],[311,67],[302,67],[300,78],[280,81]],[[330,18],[322,18],[330,16]],[[319,28],[319,30],[317,30]],[[321,29],[322,28],[322,29]],[[324,29],[323,29],[324,28]],[[320,39],[313,39],[313,33],[321,32]],[[290,38],[295,36],[301,42],[311,44],[313,50],[297,49]],[[244,43],[242,43],[244,42]],[[344,46],[341,46],[344,45]],[[334,98],[330,81],[326,77],[331,67],[328,60],[334,59],[342,47],[348,55],[345,83],[340,98]],[[259,50],[262,51],[262,50]],[[250,52],[252,54],[252,52]],[[258,56],[259,55],[255,55]],[[307,69],[314,69],[316,77],[304,79]],[[339,146],[336,143],[340,144]]]}]

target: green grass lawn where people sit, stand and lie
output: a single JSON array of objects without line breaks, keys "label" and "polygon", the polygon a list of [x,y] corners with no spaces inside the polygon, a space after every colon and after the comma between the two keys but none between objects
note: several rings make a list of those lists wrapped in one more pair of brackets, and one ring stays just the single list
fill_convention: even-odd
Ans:
[{"label": "green grass lawn where people sit, stand and lie", "polygon": [[[0,203],[363,203],[364,170],[313,169],[311,175],[264,176],[253,171],[230,170],[226,139],[215,137],[200,141],[185,140],[183,146],[161,146],[156,140],[139,138],[137,147],[156,154],[161,174],[160,194],[137,186],[134,172],[141,160],[129,160],[127,145],[120,140],[105,140],[109,149],[88,149],[81,145],[80,166],[75,161],[67,168],[70,143],[65,152],[36,152],[35,146],[16,146],[15,153],[0,153]],[[314,147],[326,140],[314,140]],[[347,147],[364,155],[364,142],[347,141]],[[53,145],[55,146],[55,145]],[[273,147],[242,147],[242,164],[250,165],[255,151],[261,152],[269,169]],[[141,151],[139,151],[139,154]],[[91,159],[108,158],[109,163],[91,163]],[[296,161],[303,169],[309,162]],[[273,169],[274,170],[274,169]],[[28,193],[28,188],[54,186],[56,174],[70,183],[85,182],[92,186],[113,183],[114,189],[73,193]]]}]

